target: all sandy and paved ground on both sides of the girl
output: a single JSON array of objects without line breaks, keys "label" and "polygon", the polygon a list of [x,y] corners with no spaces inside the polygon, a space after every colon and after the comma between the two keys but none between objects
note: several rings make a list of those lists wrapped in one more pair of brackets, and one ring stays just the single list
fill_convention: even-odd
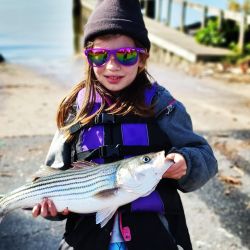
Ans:
[{"label": "all sandy and paved ground on both sides of the girl", "polygon": [[[215,149],[219,174],[241,182],[227,184],[218,175],[204,188],[182,194],[194,250],[249,249],[249,85],[192,78],[164,67],[151,70],[187,105],[194,127]],[[0,193],[23,184],[43,163],[57,106],[69,89],[24,66],[0,65]],[[63,224],[16,211],[0,225],[0,249],[56,249]]]}]

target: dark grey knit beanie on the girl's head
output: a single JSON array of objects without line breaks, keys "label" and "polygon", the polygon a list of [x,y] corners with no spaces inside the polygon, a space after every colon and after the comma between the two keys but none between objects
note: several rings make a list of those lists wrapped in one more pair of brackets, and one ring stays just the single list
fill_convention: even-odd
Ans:
[{"label": "dark grey knit beanie on the girl's head", "polygon": [[84,46],[95,37],[106,34],[124,34],[150,49],[138,0],[103,0],[91,13],[84,28]]}]

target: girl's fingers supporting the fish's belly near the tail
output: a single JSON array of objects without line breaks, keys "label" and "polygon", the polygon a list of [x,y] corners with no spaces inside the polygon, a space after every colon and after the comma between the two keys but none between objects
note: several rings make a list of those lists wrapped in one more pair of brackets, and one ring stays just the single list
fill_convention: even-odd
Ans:
[{"label": "girl's fingers supporting the fish's belly near the tail", "polygon": [[[43,217],[55,217],[57,216],[58,212],[56,210],[55,204],[52,200],[48,198],[44,198],[41,203],[36,204],[32,209],[32,215],[33,217],[37,217],[39,215]],[[69,210],[68,208],[65,208],[63,212],[61,213],[63,215],[68,215]]]}]

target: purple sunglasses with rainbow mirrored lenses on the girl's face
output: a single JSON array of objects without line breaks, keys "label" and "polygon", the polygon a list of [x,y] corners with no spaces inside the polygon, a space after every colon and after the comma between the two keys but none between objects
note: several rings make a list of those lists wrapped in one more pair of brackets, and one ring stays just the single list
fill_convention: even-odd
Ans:
[{"label": "purple sunglasses with rainbow mirrored lenses on the girl's face", "polygon": [[147,52],[143,48],[127,47],[119,49],[89,48],[84,53],[91,66],[101,67],[109,61],[111,55],[114,55],[118,63],[124,66],[131,66],[137,63],[139,53],[146,54]]}]

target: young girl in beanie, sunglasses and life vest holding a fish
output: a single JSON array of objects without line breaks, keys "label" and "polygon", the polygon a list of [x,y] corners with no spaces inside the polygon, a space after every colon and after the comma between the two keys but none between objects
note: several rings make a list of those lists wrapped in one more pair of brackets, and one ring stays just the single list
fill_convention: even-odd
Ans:
[{"label": "young girl in beanie, sunglasses and life vest holding a fish", "polygon": [[67,218],[60,249],[192,249],[177,190],[204,185],[217,162],[195,134],[184,106],[146,71],[150,41],[137,0],[104,0],[84,32],[86,80],[61,102],[58,131],[45,164],[67,169],[73,161],[113,162],[166,152],[174,164],[156,190],[127,204],[101,228],[95,214],[58,214],[52,200],[33,216]]}]

